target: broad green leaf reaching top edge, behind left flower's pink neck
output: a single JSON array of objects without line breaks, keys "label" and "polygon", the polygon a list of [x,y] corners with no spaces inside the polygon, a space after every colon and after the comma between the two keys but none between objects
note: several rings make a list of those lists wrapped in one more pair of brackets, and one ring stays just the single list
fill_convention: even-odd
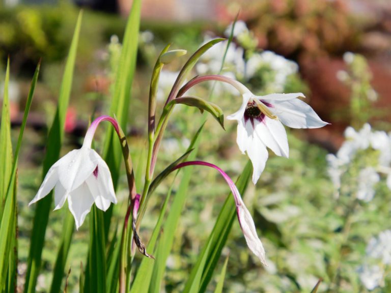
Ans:
[{"label": "broad green leaf reaching top edge, behind left flower's pink neck", "polygon": [[[141,0],[134,0],[125,28],[120,61],[116,73],[113,100],[109,114],[115,115],[121,128],[126,133],[128,122],[131,87],[137,61],[138,31],[141,14]],[[113,179],[114,188],[117,188],[120,166],[122,162],[121,145],[113,127],[108,128],[103,147],[102,158],[106,161]],[[111,215],[114,206],[110,206],[104,213],[104,233],[107,240]]]}]

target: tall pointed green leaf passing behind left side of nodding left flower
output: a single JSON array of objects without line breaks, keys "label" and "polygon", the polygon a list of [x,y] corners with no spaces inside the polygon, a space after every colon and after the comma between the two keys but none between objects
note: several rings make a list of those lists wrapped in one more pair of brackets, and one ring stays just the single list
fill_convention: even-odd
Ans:
[{"label": "tall pointed green leaf passing behind left side of nodding left flower", "polygon": [[[55,113],[54,121],[49,130],[47,138],[48,144],[42,170],[43,178],[51,165],[53,165],[60,156],[61,144],[64,137],[65,116],[71,94],[73,68],[76,60],[76,49],[80,34],[81,17],[82,12],[79,13],[77,18],[71,47],[69,49],[68,60],[65,65],[64,76],[61,83],[57,111]],[[51,202],[52,196],[50,193],[36,204],[29,258],[27,259],[27,273],[24,285],[25,293],[35,292],[35,286],[37,283],[39,270],[41,268],[41,255],[44,246],[45,232],[49,219]]]}]

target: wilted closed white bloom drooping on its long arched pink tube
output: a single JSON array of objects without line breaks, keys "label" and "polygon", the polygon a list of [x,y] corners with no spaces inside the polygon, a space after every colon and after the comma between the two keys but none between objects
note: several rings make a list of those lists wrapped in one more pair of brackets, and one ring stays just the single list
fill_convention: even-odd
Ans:
[{"label": "wilted closed white bloom drooping on its long arched pink tube", "polygon": [[247,246],[256,256],[258,256],[258,258],[262,262],[262,264],[264,266],[267,266],[266,258],[265,258],[265,249],[263,248],[261,240],[258,238],[257,230],[256,230],[256,227],[254,224],[254,220],[253,220],[250,212],[247,210],[235,183],[231,180],[231,178],[227,175],[226,172],[221,170],[218,166],[211,164],[211,163],[208,163],[208,162],[203,162],[203,161],[183,162],[183,163],[178,164],[176,167],[174,167],[173,170],[176,170],[176,169],[179,169],[182,167],[186,167],[186,166],[191,166],[191,165],[208,166],[208,167],[212,167],[220,172],[222,177],[228,183],[228,185],[232,191],[232,195],[234,196],[235,205],[236,205],[236,214],[238,216],[240,228],[242,229]]}]

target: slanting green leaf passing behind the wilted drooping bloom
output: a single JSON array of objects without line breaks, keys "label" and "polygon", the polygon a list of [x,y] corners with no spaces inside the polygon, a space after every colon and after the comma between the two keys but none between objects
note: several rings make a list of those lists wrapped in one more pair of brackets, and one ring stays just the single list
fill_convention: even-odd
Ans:
[{"label": "slanting green leaf passing behind the wilted drooping bloom", "polygon": [[[236,181],[236,187],[239,190],[239,193],[243,196],[245,190],[247,189],[248,181],[251,178],[253,172],[253,166],[250,161],[247,162],[246,166],[243,169],[243,172],[240,174],[240,177]],[[236,207],[235,200],[230,193],[222,207],[216,223],[213,227],[212,232],[208,238],[207,243],[211,243],[209,252],[206,252],[206,246],[200,258],[205,254],[208,254],[208,262],[206,263],[205,268],[203,269],[203,275],[201,280],[200,292],[205,292],[206,287],[213,276],[213,271],[216,268],[218,259],[220,258],[221,251],[224,248],[228,235],[231,231],[232,224],[236,218]],[[197,268],[195,268],[197,270]]]}]

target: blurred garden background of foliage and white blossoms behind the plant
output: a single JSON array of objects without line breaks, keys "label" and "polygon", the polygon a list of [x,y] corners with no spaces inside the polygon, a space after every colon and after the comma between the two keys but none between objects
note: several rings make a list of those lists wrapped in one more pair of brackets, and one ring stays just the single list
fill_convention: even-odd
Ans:
[{"label": "blurred garden background of foliage and white blossoms behind the plant", "polygon": [[[41,60],[18,165],[17,287],[23,291],[34,217],[34,207],[27,204],[41,184],[48,127],[57,107],[77,15],[83,9],[62,155],[80,148],[92,116],[112,114],[114,72],[132,2],[1,1],[0,95],[9,57],[11,138],[15,143],[31,78]],[[269,266],[263,267],[249,252],[235,222],[206,291],[215,289],[227,256],[224,292],[310,292],[319,279],[323,281],[318,292],[391,291],[388,0],[143,0],[126,129],[136,180],[143,180],[149,83],[160,51],[171,44],[173,49],[187,50],[189,56],[208,40],[229,38],[236,17],[232,43],[225,41],[207,51],[192,76],[221,71],[257,95],[302,92],[305,102],[331,125],[287,129],[290,158],[270,152],[259,182],[256,186],[249,183],[243,195]],[[180,57],[161,72],[158,108],[164,105],[185,61],[186,56]],[[219,105],[225,116],[241,104],[240,95],[226,85],[210,82],[192,91]],[[203,119],[199,111],[177,106],[164,134],[157,171],[186,151]],[[236,126],[226,121],[224,131],[208,118],[197,155],[232,178],[240,175],[247,162],[236,145]],[[98,153],[103,148],[99,137],[104,129],[96,135]],[[172,181],[164,181],[148,203],[140,230],[146,244]],[[229,192],[214,170],[197,169],[190,181],[192,188],[160,291],[183,291]],[[173,185],[173,194],[177,186]],[[114,215],[121,222],[128,196],[124,172],[116,194],[119,203]],[[49,290],[66,213],[67,209],[50,213],[38,292]],[[85,265],[89,237],[86,221],[74,233],[66,266],[71,271],[62,289],[67,282],[70,292],[79,291],[80,263]],[[141,259],[136,255],[135,270]]]}]

